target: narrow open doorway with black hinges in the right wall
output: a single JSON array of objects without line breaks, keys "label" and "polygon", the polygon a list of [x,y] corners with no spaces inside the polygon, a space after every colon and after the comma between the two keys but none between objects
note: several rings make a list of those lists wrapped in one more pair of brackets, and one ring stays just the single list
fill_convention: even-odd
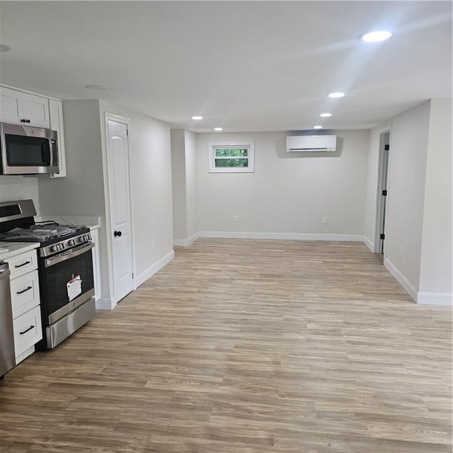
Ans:
[{"label": "narrow open doorway with black hinges in the right wall", "polygon": [[379,134],[379,178],[377,200],[377,228],[374,241],[374,253],[379,261],[384,264],[386,216],[389,196],[389,156],[390,156],[390,130]]}]

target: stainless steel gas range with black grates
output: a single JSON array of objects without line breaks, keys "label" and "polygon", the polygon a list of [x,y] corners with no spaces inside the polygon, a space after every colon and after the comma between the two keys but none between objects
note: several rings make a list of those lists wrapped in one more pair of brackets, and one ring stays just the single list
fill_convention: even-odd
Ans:
[{"label": "stainless steel gas range with black grates", "polygon": [[33,200],[0,203],[0,241],[39,242],[42,340],[55,348],[96,314],[90,230],[81,225],[36,223]]}]

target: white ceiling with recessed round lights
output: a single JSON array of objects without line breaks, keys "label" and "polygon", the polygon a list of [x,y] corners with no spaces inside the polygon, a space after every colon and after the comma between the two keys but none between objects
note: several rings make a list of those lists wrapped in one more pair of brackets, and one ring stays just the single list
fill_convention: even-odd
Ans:
[{"label": "white ceiling with recessed round lights", "polygon": [[1,83],[195,132],[369,128],[452,96],[451,1],[1,1],[0,25]]}]

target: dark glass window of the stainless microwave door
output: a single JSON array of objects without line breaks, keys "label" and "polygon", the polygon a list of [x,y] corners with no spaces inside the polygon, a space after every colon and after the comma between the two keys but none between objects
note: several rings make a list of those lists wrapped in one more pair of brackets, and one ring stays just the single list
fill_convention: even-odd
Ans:
[{"label": "dark glass window of the stainless microwave door", "polygon": [[50,166],[50,142],[44,137],[5,134],[8,166]]}]

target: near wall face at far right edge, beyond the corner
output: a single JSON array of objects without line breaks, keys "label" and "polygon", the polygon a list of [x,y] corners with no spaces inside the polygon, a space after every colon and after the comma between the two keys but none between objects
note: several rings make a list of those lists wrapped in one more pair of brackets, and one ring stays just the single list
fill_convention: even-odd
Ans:
[{"label": "near wall face at far right edge, beyond the corner", "polygon": [[430,103],[418,302],[452,303],[452,100]]}]

